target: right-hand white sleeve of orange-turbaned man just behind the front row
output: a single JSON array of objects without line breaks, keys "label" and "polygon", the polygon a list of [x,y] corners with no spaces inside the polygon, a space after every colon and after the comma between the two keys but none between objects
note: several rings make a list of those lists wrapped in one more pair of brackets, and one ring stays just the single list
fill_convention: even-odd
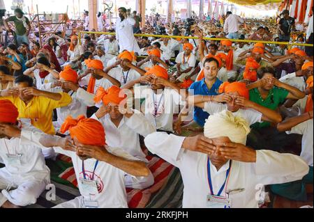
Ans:
[{"label": "right-hand white sleeve of orange-turbaned man just behind the front row", "polygon": [[126,125],[133,129],[134,132],[146,137],[149,134],[156,132],[154,125],[144,117],[139,111],[134,111],[135,113],[130,117],[126,118]]}]

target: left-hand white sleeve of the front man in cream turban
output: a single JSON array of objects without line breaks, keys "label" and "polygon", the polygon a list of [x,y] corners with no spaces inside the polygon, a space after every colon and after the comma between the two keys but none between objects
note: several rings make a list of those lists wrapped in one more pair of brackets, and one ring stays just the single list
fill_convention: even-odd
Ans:
[{"label": "left-hand white sleeve of the front man in cream turban", "polygon": [[174,134],[168,135],[165,132],[156,132],[149,134],[144,143],[147,149],[153,154],[157,154],[159,157],[165,159],[170,164],[180,168],[181,159],[183,157],[184,150],[181,148],[185,137],[176,136]]}]

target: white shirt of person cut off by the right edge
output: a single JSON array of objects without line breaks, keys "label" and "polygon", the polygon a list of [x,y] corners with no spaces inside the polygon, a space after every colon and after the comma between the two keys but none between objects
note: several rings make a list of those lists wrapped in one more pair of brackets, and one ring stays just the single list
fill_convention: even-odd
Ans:
[{"label": "white shirt of person cut off by the right edge", "polygon": [[300,157],[306,161],[308,166],[313,166],[313,119],[301,122],[286,133],[303,135]]}]

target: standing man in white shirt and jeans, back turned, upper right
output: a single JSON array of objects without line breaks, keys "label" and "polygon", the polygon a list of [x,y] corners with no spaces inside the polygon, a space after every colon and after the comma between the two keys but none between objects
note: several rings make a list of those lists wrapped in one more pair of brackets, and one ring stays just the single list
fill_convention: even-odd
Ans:
[{"label": "standing man in white shirt and jeans, back turned, upper right", "polygon": [[223,26],[223,31],[228,33],[227,38],[239,38],[239,25],[244,23],[244,20],[239,15],[232,15],[232,12],[227,12],[227,18]]}]

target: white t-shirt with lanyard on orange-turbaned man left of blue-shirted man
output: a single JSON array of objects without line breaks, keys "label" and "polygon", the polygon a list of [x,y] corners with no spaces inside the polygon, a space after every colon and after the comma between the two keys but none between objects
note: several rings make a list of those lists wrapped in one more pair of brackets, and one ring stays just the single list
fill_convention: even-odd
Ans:
[{"label": "white t-shirt with lanyard on orange-turbaned man left of blue-shirted man", "polygon": [[160,94],[155,94],[154,90],[148,86],[134,87],[135,99],[145,99],[142,104],[142,112],[156,129],[173,132],[173,114],[179,113],[177,106],[184,106],[181,95],[176,90],[165,88]]}]

